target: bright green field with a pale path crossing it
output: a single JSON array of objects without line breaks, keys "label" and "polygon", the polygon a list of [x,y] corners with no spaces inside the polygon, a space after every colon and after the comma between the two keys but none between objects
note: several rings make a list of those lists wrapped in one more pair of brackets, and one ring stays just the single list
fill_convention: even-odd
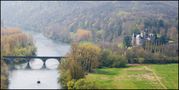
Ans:
[{"label": "bright green field with a pale path crossing it", "polygon": [[103,89],[177,89],[178,64],[102,68],[88,74],[86,79]]}]

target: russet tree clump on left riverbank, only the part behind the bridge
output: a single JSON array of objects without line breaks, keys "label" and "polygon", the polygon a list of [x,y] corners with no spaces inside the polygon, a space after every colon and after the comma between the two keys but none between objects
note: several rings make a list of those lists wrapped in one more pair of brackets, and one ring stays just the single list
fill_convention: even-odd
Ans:
[{"label": "russet tree clump on left riverbank, only the part behind the bridge", "polygon": [[35,47],[31,36],[19,28],[1,29],[1,56],[34,55]]}]

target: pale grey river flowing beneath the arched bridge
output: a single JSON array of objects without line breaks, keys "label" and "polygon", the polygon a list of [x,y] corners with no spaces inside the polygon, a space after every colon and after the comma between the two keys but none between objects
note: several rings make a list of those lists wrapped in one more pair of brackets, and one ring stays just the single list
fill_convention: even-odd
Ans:
[{"label": "pale grey river flowing beneath the arched bridge", "polygon": [[[26,32],[29,33],[29,32]],[[70,45],[56,43],[42,34],[32,33],[37,47],[37,56],[64,56],[69,52]],[[17,70],[9,72],[9,89],[60,89],[58,83],[59,73],[56,69],[59,65],[57,60],[47,60],[46,65],[49,70],[39,69],[42,67],[41,60],[30,62],[32,70],[25,70],[17,66]],[[37,84],[37,81],[40,84]]]}]

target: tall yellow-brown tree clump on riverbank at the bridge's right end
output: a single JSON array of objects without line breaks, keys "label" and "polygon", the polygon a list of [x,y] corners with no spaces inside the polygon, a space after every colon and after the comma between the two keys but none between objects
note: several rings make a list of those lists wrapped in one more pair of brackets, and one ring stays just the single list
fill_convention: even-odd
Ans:
[{"label": "tall yellow-brown tree clump on riverbank at the bridge's right end", "polygon": [[91,43],[72,44],[68,58],[62,61],[60,66],[60,78],[63,87],[67,87],[71,80],[83,78],[88,72],[99,65],[100,48]]}]

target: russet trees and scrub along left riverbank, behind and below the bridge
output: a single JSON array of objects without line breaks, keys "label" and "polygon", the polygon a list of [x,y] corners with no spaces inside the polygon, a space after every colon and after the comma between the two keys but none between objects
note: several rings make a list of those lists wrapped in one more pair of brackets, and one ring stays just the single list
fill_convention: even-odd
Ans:
[{"label": "russet trees and scrub along left riverbank, behind and below the bridge", "polygon": [[1,28],[1,89],[8,88],[8,66],[2,56],[35,55],[35,51],[31,36],[19,28]]}]

